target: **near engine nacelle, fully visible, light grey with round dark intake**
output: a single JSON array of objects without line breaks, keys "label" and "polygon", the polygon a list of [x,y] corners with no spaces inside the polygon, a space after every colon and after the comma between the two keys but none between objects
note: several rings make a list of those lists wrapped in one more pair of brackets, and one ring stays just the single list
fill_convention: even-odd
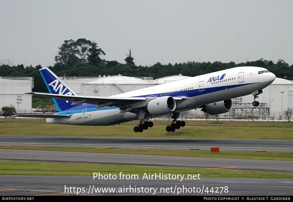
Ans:
[{"label": "near engine nacelle, fully visible, light grey with round dark intake", "polygon": [[151,100],[147,104],[147,112],[151,115],[163,115],[171,113],[176,108],[176,102],[171,96],[163,96]]}]

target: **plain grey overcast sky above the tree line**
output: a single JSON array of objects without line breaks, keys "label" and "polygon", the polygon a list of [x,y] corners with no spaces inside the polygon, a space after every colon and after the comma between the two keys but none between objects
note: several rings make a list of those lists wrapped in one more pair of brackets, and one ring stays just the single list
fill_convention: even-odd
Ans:
[{"label": "plain grey overcast sky above the tree line", "polygon": [[86,38],[125,63],[293,63],[290,0],[1,0],[0,60],[55,63],[64,40]]}]

